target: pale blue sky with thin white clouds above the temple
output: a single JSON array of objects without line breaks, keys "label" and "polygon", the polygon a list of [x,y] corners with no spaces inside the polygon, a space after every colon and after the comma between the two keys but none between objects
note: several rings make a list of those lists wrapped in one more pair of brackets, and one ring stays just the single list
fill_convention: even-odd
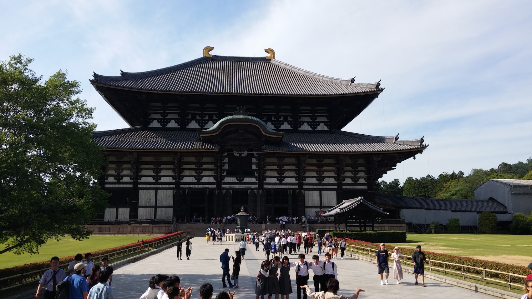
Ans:
[{"label": "pale blue sky with thin white clouds above the temple", "polygon": [[21,1],[0,3],[0,59],[21,53],[47,78],[66,70],[96,107],[97,130],[127,127],[89,84],[215,55],[265,56],[385,91],[344,130],[425,136],[384,176],[532,156],[530,1]]}]

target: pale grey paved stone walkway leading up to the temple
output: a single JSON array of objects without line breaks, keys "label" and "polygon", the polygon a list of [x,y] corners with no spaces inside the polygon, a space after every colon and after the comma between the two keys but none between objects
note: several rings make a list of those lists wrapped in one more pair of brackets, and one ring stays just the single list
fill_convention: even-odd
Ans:
[{"label": "pale grey paved stone walkway leading up to the temple", "polygon": [[[235,255],[238,250],[238,243],[216,242],[206,245],[205,238],[195,237],[193,242],[192,255],[190,260],[177,260],[175,247],[161,253],[152,255],[142,261],[127,264],[117,270],[113,275],[113,292],[115,299],[138,299],[148,287],[148,280],[156,274],[178,275],[181,284],[194,288],[192,298],[200,298],[199,288],[203,283],[210,283],[214,287],[214,296],[221,291],[228,291],[222,288],[220,254],[224,249],[229,249],[229,255]],[[255,247],[248,245],[245,259],[240,266],[240,288],[235,289],[235,299],[254,299],[254,285],[256,274],[263,261],[264,253],[262,246],[259,252]],[[317,250],[317,248],[316,248]],[[185,252],[183,252],[185,253]],[[338,254],[339,255],[339,254]],[[296,255],[288,254],[290,261],[297,261]],[[311,255],[307,255],[311,261]],[[322,255],[323,257],[323,255]],[[438,283],[434,280],[425,279],[427,287],[414,285],[414,277],[411,274],[404,274],[401,284],[396,285],[393,273],[390,273],[389,285],[380,285],[377,267],[375,264],[355,258],[344,258],[344,260],[333,260],[338,266],[338,280],[340,282],[339,294],[353,295],[355,289],[360,287],[366,292],[361,293],[359,298],[453,298],[453,299],[480,299],[495,298],[489,295],[475,293],[464,288]],[[230,263],[231,265],[232,263]],[[312,271],[311,271],[312,272]],[[393,270],[392,270],[393,272]],[[296,299],[295,274],[292,273],[293,294],[290,298]],[[419,280],[421,281],[421,280]],[[312,287],[312,273],[310,274],[310,285]]]}]

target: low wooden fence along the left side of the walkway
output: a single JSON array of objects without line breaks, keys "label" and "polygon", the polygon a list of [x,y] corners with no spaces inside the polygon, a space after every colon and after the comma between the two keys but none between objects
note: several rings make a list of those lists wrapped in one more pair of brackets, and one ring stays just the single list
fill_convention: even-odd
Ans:
[{"label": "low wooden fence along the left side of the walkway", "polygon": [[[167,238],[165,240],[155,241],[155,242],[151,242],[151,243],[143,243],[141,245],[130,247],[128,249],[113,251],[113,252],[102,254],[102,255],[95,255],[93,257],[92,261],[95,264],[97,264],[97,263],[101,262],[104,257],[106,257],[110,261],[112,261],[113,259],[121,258],[124,255],[129,255],[129,254],[136,253],[136,252],[142,251],[142,250],[149,250],[149,249],[152,249],[153,247],[156,247],[156,246],[159,246],[159,245],[162,245],[162,244],[165,244],[165,243],[169,243],[169,242],[177,240],[178,238],[184,238],[184,237],[187,237],[186,233],[175,235],[175,236],[172,236],[172,237]],[[65,270],[65,271],[68,271],[69,263],[70,262],[62,263],[62,264],[59,265],[59,268]],[[27,272],[27,273],[21,273],[21,274],[17,274],[17,275],[13,275],[13,276],[2,277],[2,278],[0,278],[0,292],[4,292],[4,291],[6,291],[8,289],[12,289],[12,288],[16,288],[16,287],[21,289],[23,285],[35,283],[36,281],[39,281],[40,277],[48,269],[50,269],[50,268],[48,267],[48,268],[44,268],[44,269],[39,269],[39,270]]]}]

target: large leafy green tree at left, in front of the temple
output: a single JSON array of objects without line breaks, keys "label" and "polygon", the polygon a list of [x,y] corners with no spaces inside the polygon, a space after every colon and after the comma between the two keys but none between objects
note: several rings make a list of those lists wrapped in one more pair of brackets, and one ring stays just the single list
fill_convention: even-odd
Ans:
[{"label": "large leafy green tree at left, in front of the temple", "polygon": [[106,206],[94,109],[76,97],[77,81],[62,71],[43,81],[31,61],[0,62],[0,253],[37,253],[66,234],[81,240]]}]

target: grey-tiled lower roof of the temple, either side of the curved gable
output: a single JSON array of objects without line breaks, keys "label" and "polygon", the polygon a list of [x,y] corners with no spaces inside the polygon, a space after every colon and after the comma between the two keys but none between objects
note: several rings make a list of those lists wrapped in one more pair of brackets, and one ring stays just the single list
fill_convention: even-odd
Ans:
[{"label": "grey-tiled lower roof of the temple, either side of the curved gable", "polygon": [[[128,129],[95,132],[93,141],[107,150],[218,151],[217,142],[204,142],[195,131]],[[286,133],[280,142],[264,141],[264,152],[385,153],[421,152],[423,139],[398,140],[398,136],[371,136],[340,130],[323,133]]]}]

